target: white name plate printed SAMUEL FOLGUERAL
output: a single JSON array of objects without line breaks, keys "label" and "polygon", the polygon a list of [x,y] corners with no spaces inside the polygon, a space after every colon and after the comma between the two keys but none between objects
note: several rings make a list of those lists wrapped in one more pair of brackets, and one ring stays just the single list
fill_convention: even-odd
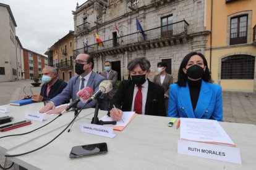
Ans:
[{"label": "white name plate printed SAMUEL FOLGUERAL", "polygon": [[80,124],[81,131],[88,134],[95,134],[98,136],[104,136],[113,138],[116,134],[113,134],[113,127],[111,126],[101,126],[98,124],[89,124],[89,123],[81,123]]}]

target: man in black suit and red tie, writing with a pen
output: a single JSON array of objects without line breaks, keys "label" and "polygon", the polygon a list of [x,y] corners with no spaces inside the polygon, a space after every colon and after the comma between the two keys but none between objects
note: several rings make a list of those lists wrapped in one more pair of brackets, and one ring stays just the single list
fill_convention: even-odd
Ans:
[{"label": "man in black suit and red tie, writing with a pen", "polygon": [[[136,58],[127,66],[130,79],[122,81],[109,105],[109,115],[119,120],[122,111],[135,111],[142,115],[165,116],[164,89],[148,79],[150,62]],[[116,108],[114,108],[116,107]]]}]

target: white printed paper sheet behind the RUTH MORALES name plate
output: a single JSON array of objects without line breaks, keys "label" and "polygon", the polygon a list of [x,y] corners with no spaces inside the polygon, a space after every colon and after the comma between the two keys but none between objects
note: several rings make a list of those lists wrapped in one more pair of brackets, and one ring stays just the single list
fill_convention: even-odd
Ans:
[{"label": "white printed paper sheet behind the RUTH MORALES name plate", "polygon": [[181,139],[235,146],[216,120],[181,118],[180,126]]}]

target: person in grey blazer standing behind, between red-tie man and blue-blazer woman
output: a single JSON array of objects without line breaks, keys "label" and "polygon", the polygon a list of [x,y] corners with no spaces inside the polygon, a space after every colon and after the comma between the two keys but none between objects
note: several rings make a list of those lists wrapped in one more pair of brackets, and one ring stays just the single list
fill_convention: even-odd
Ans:
[{"label": "person in grey blazer standing behind, between red-tie man and blue-blazer woman", "polygon": [[168,100],[169,100],[169,86],[173,84],[173,76],[166,73],[167,63],[159,62],[157,63],[158,75],[154,76],[153,82],[159,84],[164,88],[164,105],[166,108],[166,116],[168,116]]}]

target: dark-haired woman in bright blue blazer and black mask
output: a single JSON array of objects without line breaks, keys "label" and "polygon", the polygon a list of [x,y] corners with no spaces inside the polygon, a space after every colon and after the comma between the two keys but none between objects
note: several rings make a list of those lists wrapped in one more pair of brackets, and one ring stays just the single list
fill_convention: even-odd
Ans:
[{"label": "dark-haired woman in bright blue blazer and black mask", "polygon": [[213,84],[207,60],[190,52],[179,67],[176,84],[169,88],[168,116],[223,120],[221,86]]}]

